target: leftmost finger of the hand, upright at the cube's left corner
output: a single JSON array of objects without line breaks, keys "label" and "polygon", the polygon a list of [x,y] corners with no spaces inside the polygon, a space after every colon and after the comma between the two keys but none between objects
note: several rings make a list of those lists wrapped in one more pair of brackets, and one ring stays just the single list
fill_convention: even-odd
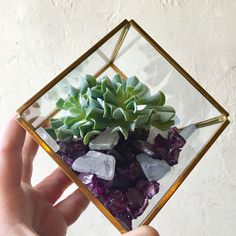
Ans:
[{"label": "leftmost finger of the hand, upright at the cube's left corner", "polygon": [[21,183],[22,147],[25,130],[14,116],[0,137],[0,187],[15,187]]}]

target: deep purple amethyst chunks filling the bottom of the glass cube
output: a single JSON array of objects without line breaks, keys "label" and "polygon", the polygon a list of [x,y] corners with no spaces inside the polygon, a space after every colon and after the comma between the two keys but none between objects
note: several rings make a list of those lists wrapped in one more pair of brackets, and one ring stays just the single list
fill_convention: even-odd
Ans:
[{"label": "deep purple amethyst chunks filling the bottom of the glass cube", "polygon": [[[130,133],[127,140],[121,137],[113,149],[102,151],[116,159],[112,180],[100,179],[90,173],[76,173],[127,230],[132,229],[132,220],[144,212],[149,199],[159,191],[159,183],[147,179],[136,156],[146,153],[173,166],[178,163],[179,153],[186,143],[177,128],[169,129],[167,139],[158,134],[154,144],[146,141],[148,133],[145,129],[137,130]],[[76,158],[89,151],[81,139],[75,139],[69,144],[60,142],[59,145],[61,149],[58,154],[70,167]]]}]

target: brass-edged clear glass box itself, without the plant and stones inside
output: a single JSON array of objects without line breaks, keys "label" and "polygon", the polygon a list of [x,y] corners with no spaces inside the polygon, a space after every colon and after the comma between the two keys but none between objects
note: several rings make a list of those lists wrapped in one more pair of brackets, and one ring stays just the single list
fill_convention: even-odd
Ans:
[{"label": "brass-edged clear glass box itself, without the plant and stones inside", "polygon": [[[65,162],[56,138],[45,132],[50,128],[50,120],[63,116],[63,111],[56,106],[58,100],[68,97],[71,86],[80,88],[80,78],[86,75],[112,78],[117,74],[123,79],[137,76],[151,94],[162,91],[166,103],[175,109],[174,126],[178,132],[186,130],[189,125],[195,127],[182,148],[178,164],[158,180],[158,193],[148,199],[142,212],[132,219],[125,218],[127,212],[122,218],[122,214],[112,211],[111,206],[106,205],[112,202],[112,198],[109,203],[101,200]],[[228,112],[134,20],[120,23],[17,112],[19,123],[121,233],[151,222],[229,124]],[[152,127],[150,129],[150,132],[156,132]],[[126,190],[122,191],[126,194]],[[116,192],[114,198],[118,194]]]}]

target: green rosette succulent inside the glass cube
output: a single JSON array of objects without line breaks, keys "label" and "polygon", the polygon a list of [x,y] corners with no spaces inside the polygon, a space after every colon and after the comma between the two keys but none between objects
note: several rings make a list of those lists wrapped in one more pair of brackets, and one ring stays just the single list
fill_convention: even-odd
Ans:
[{"label": "green rosette succulent inside the glass cube", "polygon": [[81,137],[85,144],[107,127],[120,131],[128,138],[129,131],[155,126],[167,130],[174,124],[175,110],[164,106],[165,95],[159,91],[151,95],[149,88],[136,76],[127,80],[115,75],[96,80],[86,75],[80,80],[80,89],[71,87],[66,100],[59,99],[57,108],[66,115],[51,120],[59,140],[70,141]]}]

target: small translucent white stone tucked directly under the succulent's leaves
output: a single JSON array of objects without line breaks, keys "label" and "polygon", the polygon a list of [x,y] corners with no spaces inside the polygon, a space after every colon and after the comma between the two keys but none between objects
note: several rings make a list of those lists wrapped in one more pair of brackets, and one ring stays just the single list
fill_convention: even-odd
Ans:
[{"label": "small translucent white stone tucked directly under the succulent's leaves", "polygon": [[89,148],[92,150],[110,150],[119,141],[117,132],[112,133],[111,128],[107,128],[104,132],[99,134],[95,139],[89,142]]}]

